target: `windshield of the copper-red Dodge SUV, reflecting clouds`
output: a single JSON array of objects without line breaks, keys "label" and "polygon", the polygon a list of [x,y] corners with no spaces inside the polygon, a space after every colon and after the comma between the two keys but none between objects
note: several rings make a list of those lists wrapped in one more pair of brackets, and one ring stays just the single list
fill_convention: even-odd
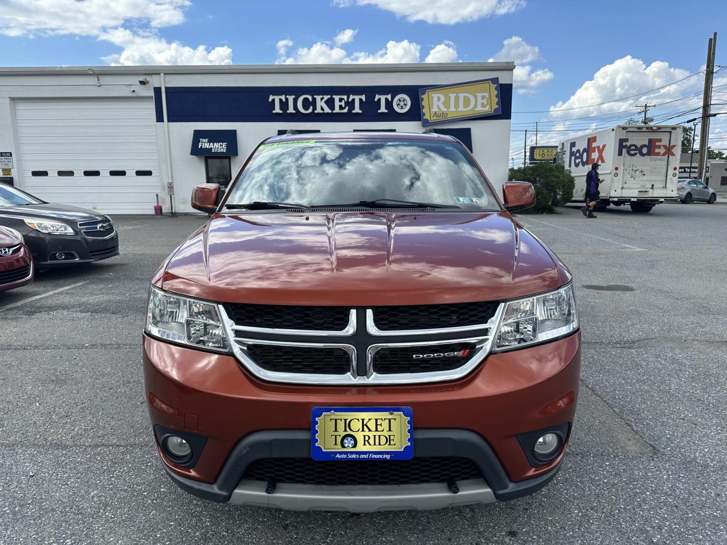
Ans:
[{"label": "windshield of the copper-red Dodge SUV, reflecting clouds", "polygon": [[[392,200],[499,211],[462,145],[427,140],[290,140],[260,145],[225,206]],[[366,206],[375,206],[369,203]]]}]

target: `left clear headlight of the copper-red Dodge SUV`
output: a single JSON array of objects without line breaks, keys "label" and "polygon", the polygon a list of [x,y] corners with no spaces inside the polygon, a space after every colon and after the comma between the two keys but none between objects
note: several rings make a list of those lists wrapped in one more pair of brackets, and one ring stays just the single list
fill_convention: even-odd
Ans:
[{"label": "left clear headlight of the copper-red Dodge SUV", "polygon": [[168,341],[228,352],[217,305],[151,287],[146,331]]}]

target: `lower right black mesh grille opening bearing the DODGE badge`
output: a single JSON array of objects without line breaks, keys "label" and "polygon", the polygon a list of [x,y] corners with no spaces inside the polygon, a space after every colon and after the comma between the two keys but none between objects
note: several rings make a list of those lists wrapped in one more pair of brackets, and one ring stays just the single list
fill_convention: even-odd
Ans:
[{"label": "lower right black mesh grille opening bearing the DODGE badge", "polygon": [[383,347],[374,352],[374,373],[430,373],[462,367],[475,355],[473,342]]}]

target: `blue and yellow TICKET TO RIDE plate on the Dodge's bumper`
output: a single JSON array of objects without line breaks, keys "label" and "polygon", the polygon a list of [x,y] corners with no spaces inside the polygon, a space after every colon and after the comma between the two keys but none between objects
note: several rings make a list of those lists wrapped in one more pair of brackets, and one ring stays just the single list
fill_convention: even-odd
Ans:
[{"label": "blue and yellow TICKET TO RIDE plate on the Dodge's bumper", "polygon": [[315,407],[314,460],[409,460],[414,456],[411,407]]}]

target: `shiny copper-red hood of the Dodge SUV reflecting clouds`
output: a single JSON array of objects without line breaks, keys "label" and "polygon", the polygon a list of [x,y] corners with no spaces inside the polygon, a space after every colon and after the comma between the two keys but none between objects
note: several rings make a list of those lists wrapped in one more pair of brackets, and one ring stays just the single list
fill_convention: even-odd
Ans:
[{"label": "shiny copper-red hood of the Dodge SUV reflecting clouds", "polygon": [[568,275],[507,212],[217,214],[153,283],[212,301],[363,306],[512,299]]}]

